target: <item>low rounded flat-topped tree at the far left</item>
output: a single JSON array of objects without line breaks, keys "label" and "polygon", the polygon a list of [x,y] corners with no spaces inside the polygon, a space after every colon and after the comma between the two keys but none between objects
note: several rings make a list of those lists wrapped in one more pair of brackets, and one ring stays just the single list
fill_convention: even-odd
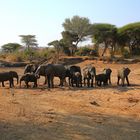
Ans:
[{"label": "low rounded flat-topped tree at the far left", "polygon": [[8,43],[1,46],[3,52],[9,52],[9,53],[18,50],[20,47],[21,45],[18,43]]}]

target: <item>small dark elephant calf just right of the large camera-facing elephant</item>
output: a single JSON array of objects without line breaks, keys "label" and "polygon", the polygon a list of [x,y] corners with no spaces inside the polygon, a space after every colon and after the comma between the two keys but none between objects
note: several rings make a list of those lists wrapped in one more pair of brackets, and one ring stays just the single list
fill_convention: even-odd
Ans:
[{"label": "small dark elephant calf just right of the large camera-facing elephant", "polygon": [[103,83],[103,85],[105,86],[108,84],[107,81],[108,76],[106,74],[102,73],[95,76],[95,85],[101,86]]}]

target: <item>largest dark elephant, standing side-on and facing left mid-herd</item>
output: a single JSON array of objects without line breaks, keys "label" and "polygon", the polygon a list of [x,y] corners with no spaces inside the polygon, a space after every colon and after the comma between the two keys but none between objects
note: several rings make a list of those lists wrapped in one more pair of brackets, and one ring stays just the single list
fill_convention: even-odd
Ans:
[{"label": "largest dark elephant, standing side-on and facing left mid-herd", "polygon": [[40,65],[35,72],[36,75],[44,74],[46,76],[46,81],[48,80],[48,87],[54,87],[53,79],[54,77],[60,78],[60,86],[63,86],[63,82],[66,77],[66,68],[62,64],[46,64]]}]

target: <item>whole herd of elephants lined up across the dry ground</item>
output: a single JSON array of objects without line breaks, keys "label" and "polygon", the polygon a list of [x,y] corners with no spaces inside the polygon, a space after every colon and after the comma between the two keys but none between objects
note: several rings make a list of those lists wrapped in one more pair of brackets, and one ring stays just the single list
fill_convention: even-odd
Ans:
[{"label": "whole herd of elephants lined up across the dry ground", "polygon": [[[54,87],[54,77],[59,77],[60,84],[59,86],[63,86],[66,83],[66,78],[68,78],[68,84],[72,87],[94,87],[94,86],[106,86],[111,84],[111,73],[112,70],[110,68],[104,69],[101,74],[96,74],[96,68],[92,65],[85,66],[82,70],[79,66],[64,66],[62,64],[28,64],[24,69],[24,74],[20,77],[20,87],[22,81],[25,82],[26,87],[29,87],[29,82],[33,82],[34,86],[38,86],[38,79],[40,76],[45,77],[44,84],[47,84],[48,88]],[[127,67],[123,67],[118,70],[117,73],[117,85],[119,85],[119,81],[121,79],[121,85],[124,86],[125,79],[127,85],[129,86],[128,75],[130,73],[130,69]],[[9,87],[14,87],[14,78],[18,79],[19,76],[15,71],[9,72],[0,72],[0,82],[4,87],[4,82],[9,81]]]}]

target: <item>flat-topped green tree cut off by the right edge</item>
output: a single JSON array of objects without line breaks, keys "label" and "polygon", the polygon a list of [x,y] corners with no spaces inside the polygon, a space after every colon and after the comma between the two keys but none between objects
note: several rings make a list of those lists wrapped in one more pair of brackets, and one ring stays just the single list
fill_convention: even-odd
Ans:
[{"label": "flat-topped green tree cut off by the right edge", "polygon": [[129,47],[130,53],[140,54],[140,22],[131,23],[118,29],[120,43]]}]

